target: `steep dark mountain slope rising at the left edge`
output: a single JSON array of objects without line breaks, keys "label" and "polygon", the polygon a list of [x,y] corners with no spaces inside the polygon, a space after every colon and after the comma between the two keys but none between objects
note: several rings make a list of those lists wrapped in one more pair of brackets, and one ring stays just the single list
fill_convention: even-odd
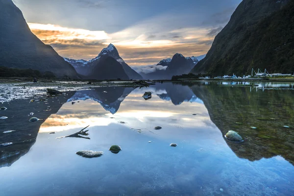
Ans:
[{"label": "steep dark mountain slope rising at the left edge", "polygon": [[72,65],[30,31],[12,0],[0,0],[0,66],[78,77]]}]

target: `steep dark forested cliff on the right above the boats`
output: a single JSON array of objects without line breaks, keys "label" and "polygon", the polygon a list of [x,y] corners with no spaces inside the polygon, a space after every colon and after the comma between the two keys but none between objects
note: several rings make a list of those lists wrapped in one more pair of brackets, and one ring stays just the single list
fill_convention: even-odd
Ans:
[{"label": "steep dark forested cliff on the right above the boats", "polygon": [[293,16],[293,0],[243,0],[191,73],[293,73]]}]

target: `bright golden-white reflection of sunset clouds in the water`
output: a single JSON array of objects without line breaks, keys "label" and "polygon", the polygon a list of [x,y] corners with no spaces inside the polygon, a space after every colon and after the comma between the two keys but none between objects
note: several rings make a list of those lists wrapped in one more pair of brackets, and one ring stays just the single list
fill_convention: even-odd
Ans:
[{"label": "bright golden-white reflection of sunset clouds in the water", "polygon": [[[68,102],[62,106],[57,114],[51,115],[43,123],[40,132],[64,131],[83,128],[87,125],[90,125],[90,127],[106,126],[110,123],[123,121],[126,122],[123,126],[130,130],[131,128],[140,128],[143,133],[149,135],[153,134],[149,131],[154,131],[155,126],[162,126],[163,129],[156,133],[156,136],[153,134],[153,137],[178,136],[178,138],[185,138],[186,136],[183,135],[200,134],[200,138],[205,138],[207,133],[219,134],[217,127],[213,123],[209,123],[210,118],[202,101],[184,101],[179,105],[174,105],[172,101],[163,100],[155,94],[146,101],[142,98],[146,91],[167,93],[162,88],[136,89],[124,98],[118,112],[114,115],[105,111],[100,103],[93,99],[80,100],[79,103],[74,105]],[[188,93],[190,97],[196,98],[194,94],[190,94],[189,91]],[[173,94],[173,98],[177,99],[177,97],[174,97],[176,95]],[[192,115],[195,113],[197,116]],[[115,119],[110,119],[110,117]]]}]

